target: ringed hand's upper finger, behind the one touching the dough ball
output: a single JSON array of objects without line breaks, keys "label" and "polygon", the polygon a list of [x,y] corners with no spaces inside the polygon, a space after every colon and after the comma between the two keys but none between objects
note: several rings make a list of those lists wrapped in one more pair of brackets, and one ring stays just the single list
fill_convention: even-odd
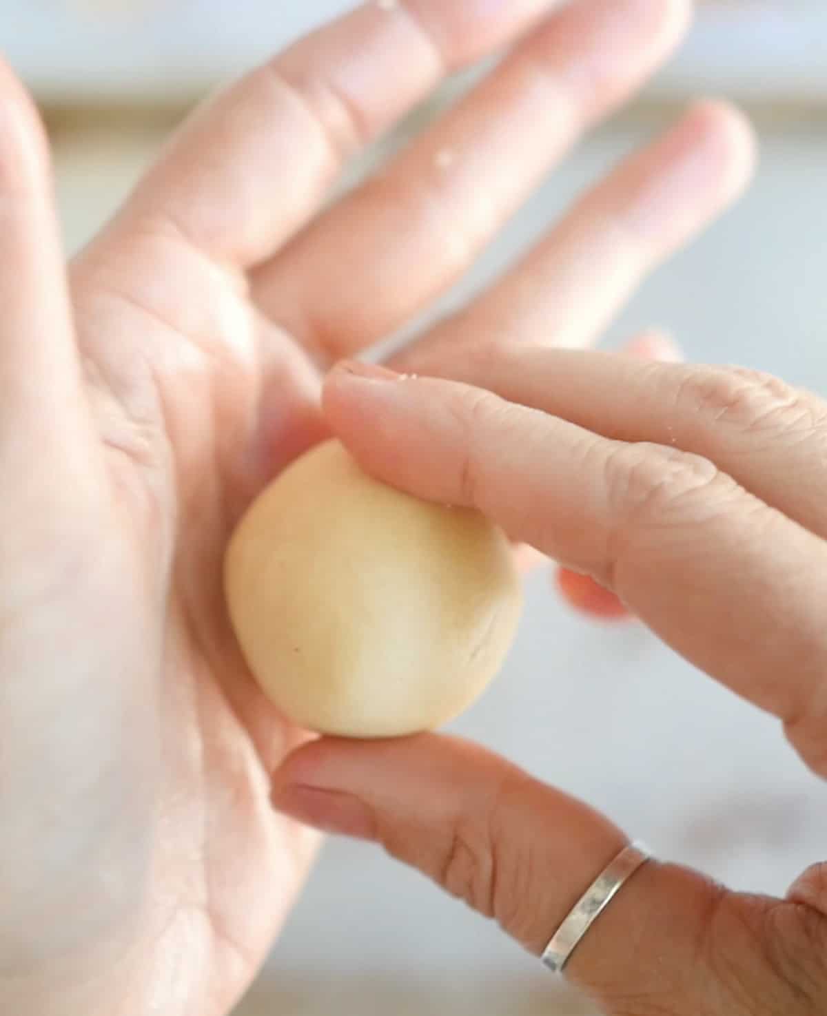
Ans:
[{"label": "ringed hand's upper finger, behind the one touching the dough ball", "polygon": [[827,536],[827,403],[777,378],[537,347],[466,357],[452,373],[609,438],[710,458],[763,501]]}]

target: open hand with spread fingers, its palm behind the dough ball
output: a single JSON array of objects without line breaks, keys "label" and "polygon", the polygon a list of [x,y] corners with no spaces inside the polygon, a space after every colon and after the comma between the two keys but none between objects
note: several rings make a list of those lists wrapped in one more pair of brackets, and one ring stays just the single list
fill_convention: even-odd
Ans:
[{"label": "open hand with spread fingers, its palm behind the dough ball", "polygon": [[[321,29],[196,114],[68,277],[41,128],[0,74],[4,1012],[219,1016],[256,973],[315,837],[270,806],[305,736],[243,664],[226,543],[326,433],[319,369],[445,290],[665,58],[689,4],[550,6],[399,0]],[[317,214],[357,148],[529,28]],[[736,195],[748,147],[734,113],[692,112],[422,355],[506,322],[586,343]]]}]

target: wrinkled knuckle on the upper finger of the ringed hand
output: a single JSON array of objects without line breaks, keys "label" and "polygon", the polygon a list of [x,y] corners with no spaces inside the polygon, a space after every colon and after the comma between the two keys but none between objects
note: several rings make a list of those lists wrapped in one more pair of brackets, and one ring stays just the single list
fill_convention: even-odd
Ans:
[{"label": "wrinkled knuckle on the upper finger of the ringed hand", "polygon": [[691,370],[678,392],[679,407],[742,433],[812,433],[827,412],[772,374],[747,368]]}]

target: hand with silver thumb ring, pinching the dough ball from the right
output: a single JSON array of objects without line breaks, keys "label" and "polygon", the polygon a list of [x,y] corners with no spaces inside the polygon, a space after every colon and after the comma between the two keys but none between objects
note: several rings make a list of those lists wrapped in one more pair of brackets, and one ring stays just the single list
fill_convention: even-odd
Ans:
[{"label": "hand with silver thumb ring, pinching the dough ball from the right", "polygon": [[[747,370],[531,346],[431,370],[465,383],[331,376],[330,420],[362,464],[593,576],[777,716],[827,776],[827,403]],[[437,736],[300,749],[276,802],[383,843],[535,953],[627,842],[585,805]],[[612,1016],[816,1016],[827,865],[780,900],[650,863],[567,972]]]}]

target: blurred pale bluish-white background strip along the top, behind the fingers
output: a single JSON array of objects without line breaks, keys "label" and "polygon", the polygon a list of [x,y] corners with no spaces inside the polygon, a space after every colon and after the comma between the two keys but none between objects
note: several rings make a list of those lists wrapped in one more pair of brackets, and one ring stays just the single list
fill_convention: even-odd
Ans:
[{"label": "blurred pale bluish-white background strip along the top, behind the fingers", "polygon": [[[180,104],[354,0],[3,0],[0,52],[61,105]],[[822,0],[709,0],[653,97],[827,101]]]}]

